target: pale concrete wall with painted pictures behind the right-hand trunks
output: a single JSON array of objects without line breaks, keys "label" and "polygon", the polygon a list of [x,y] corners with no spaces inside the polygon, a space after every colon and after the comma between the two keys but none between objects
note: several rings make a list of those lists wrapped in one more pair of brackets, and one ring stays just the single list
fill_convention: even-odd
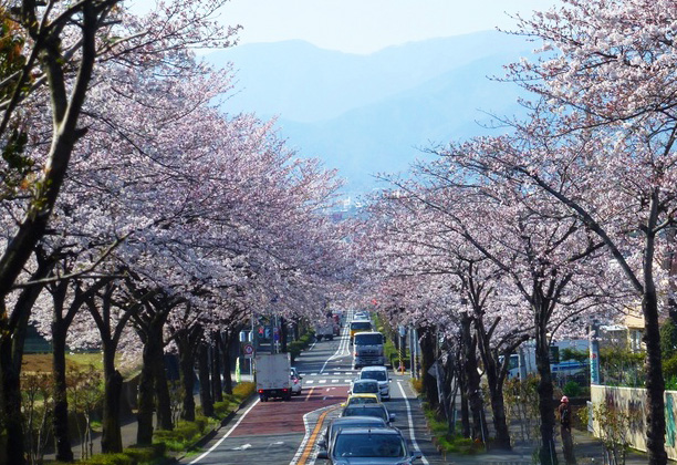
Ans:
[{"label": "pale concrete wall with painted pictures behind the right-hand trunks", "polygon": [[[592,385],[590,391],[593,405],[606,403],[607,405],[622,409],[628,414],[628,440],[631,446],[639,451],[646,451],[646,390]],[[677,391],[665,392],[665,450],[670,459],[677,459],[677,428],[675,426],[675,418],[677,417]],[[600,424],[594,417],[592,424],[593,433],[598,436]]]}]

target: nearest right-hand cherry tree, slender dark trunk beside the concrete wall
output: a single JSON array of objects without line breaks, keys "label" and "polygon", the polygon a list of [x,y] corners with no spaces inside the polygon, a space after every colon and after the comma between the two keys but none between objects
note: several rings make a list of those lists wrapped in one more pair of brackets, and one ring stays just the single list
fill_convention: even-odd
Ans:
[{"label": "nearest right-hand cherry tree, slender dark trunk beside the concrete wall", "polygon": [[[605,141],[600,152],[586,152],[574,166],[613,193],[604,198],[622,196],[623,205],[610,202],[614,207],[604,208],[606,217],[597,213],[600,202],[550,185],[531,167],[528,173],[607,244],[642,301],[652,464],[667,461],[654,262],[656,252],[674,259],[660,237],[673,227],[674,211],[675,16],[669,1],[566,0],[561,8],[522,19],[517,32],[542,40],[544,54],[509,69],[509,79],[541,95],[555,112],[570,115],[561,126],[565,133],[600,128],[595,137]],[[632,229],[618,230],[613,224]],[[632,230],[643,240],[629,240]],[[633,242],[636,257],[643,257],[635,264],[621,252],[627,242]]]}]

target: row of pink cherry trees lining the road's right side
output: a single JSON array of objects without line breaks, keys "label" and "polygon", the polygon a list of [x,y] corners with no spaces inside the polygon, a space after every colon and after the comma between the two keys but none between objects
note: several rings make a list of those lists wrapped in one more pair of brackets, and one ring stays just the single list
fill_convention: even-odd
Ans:
[{"label": "row of pink cherry trees lining the road's right side", "polygon": [[665,464],[658,319],[674,314],[677,10],[564,0],[518,19],[539,54],[503,79],[530,92],[530,116],[502,118],[506,135],[433,148],[435,162],[390,179],[364,239],[381,300],[400,321],[477,343],[499,436],[506,366],[490,354],[535,340],[541,463],[554,450],[549,338],[584,330],[591,311],[640,308],[649,463]]}]

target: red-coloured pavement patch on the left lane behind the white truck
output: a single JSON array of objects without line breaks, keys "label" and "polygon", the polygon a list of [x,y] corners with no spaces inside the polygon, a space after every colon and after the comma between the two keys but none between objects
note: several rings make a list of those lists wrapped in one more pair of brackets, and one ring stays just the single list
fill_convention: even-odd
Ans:
[{"label": "red-coloured pavement patch on the left lane behind the white truck", "polygon": [[[345,401],[348,386],[306,388],[291,402],[259,402],[230,436],[252,436],[279,433],[305,433],[303,415],[313,410]],[[306,400],[308,397],[308,400]]]}]

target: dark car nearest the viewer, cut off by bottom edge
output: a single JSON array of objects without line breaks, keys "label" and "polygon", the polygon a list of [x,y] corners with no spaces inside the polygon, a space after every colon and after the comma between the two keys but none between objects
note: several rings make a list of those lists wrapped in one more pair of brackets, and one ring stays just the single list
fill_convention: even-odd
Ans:
[{"label": "dark car nearest the viewer, cut off by bottom edge", "polygon": [[332,465],[410,465],[420,457],[398,430],[388,427],[341,430],[331,448],[317,453]]}]

